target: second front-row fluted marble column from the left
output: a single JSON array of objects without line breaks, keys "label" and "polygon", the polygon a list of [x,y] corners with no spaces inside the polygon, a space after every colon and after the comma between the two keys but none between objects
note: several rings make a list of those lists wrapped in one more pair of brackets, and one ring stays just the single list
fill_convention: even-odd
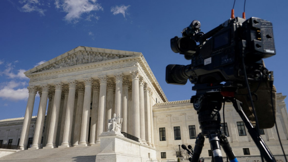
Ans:
[{"label": "second front-row fluted marble column from the left", "polygon": [[44,125],[44,120],[45,120],[49,87],[50,86],[48,84],[41,85],[42,95],[41,95],[39,110],[37,114],[35,133],[33,137],[33,144],[30,149],[41,148],[41,139],[42,139],[42,133],[43,133],[43,125]]}]

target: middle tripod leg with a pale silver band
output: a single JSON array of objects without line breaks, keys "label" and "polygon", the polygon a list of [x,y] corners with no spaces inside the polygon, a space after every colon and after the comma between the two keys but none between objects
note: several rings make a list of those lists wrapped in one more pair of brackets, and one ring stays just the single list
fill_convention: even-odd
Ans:
[{"label": "middle tripod leg with a pale silver band", "polygon": [[220,139],[218,138],[218,134],[216,133],[209,134],[209,142],[210,142],[211,150],[213,153],[214,161],[223,162],[221,148],[220,148]]}]

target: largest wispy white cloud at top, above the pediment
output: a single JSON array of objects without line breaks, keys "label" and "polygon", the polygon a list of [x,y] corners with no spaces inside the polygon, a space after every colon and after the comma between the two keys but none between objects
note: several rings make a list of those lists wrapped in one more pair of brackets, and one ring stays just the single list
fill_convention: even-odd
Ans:
[{"label": "largest wispy white cloud at top, above the pediment", "polygon": [[[65,16],[66,21],[73,21],[74,23],[77,23],[84,13],[103,10],[101,5],[96,3],[96,0],[55,0],[55,6],[67,13]],[[99,17],[96,19],[99,19]]]}]

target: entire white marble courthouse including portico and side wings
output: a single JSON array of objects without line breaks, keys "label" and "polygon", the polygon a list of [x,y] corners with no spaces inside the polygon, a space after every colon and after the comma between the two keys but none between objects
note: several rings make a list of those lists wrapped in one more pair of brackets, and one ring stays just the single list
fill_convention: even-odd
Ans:
[{"label": "entire white marble courthouse including portico and side wings", "polygon": [[[179,145],[194,147],[201,132],[193,105],[189,100],[169,102],[140,52],[79,46],[25,75],[30,79],[25,116],[0,120],[0,146],[20,146],[22,151],[0,149],[0,161],[176,160],[179,151],[181,158],[186,156]],[[40,104],[34,107],[37,93]],[[288,152],[285,97],[277,94],[276,121]],[[122,133],[107,132],[113,114],[121,118]],[[229,103],[222,125],[239,161],[261,160]],[[275,158],[284,160],[275,127],[260,134]],[[201,157],[211,158],[208,138]]]}]

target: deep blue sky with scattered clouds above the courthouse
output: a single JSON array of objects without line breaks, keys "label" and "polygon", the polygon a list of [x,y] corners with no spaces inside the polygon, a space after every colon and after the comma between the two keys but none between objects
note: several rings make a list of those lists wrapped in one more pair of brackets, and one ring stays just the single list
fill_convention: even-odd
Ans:
[{"label": "deep blue sky with scattered clouds above the courthouse", "polygon": [[[190,64],[170,48],[170,39],[199,20],[203,32],[230,18],[230,1],[2,0],[0,1],[0,120],[25,114],[29,79],[24,71],[77,46],[142,52],[169,101],[190,99],[192,84],[165,82],[168,64]],[[276,56],[265,59],[277,92],[288,94],[286,27],[288,1],[246,1],[246,17],[274,27]],[[242,16],[237,0],[235,16]],[[287,101],[287,99],[286,99]],[[37,115],[39,97],[33,115]]]}]

